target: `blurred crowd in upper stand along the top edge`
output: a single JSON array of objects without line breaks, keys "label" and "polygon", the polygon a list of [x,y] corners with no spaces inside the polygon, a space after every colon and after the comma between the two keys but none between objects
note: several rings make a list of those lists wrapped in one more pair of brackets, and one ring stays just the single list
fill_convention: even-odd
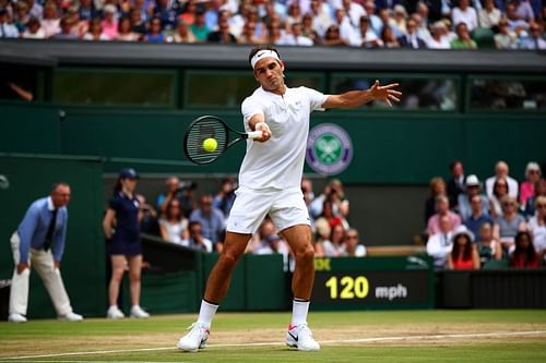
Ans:
[{"label": "blurred crowd in upper stand along the top edge", "polygon": [[0,0],[0,38],[546,49],[542,0]]}]

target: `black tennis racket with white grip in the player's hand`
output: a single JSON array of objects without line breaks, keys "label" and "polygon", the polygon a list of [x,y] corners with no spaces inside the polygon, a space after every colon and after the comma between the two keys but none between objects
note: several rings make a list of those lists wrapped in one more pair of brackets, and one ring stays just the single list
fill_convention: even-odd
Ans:
[{"label": "black tennis racket with white grip in the player's hand", "polygon": [[[230,140],[230,135],[235,135],[236,138]],[[202,116],[188,126],[183,137],[183,152],[190,161],[205,165],[219,158],[229,147],[241,140],[253,140],[261,136],[261,131],[238,132],[215,116]],[[214,150],[204,149],[203,142],[207,138],[216,141],[217,146]]]}]

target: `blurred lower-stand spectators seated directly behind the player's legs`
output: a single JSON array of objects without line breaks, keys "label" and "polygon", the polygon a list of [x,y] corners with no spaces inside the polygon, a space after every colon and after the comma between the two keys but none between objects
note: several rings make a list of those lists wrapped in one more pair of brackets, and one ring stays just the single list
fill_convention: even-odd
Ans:
[{"label": "blurred lower-stand spectators seated directly behind the player's legs", "polygon": [[[203,252],[222,251],[227,216],[235,201],[236,182],[222,180],[216,194],[195,193],[197,184],[178,177],[166,180],[166,190],[157,196],[156,206],[139,195],[141,231],[163,240]],[[366,247],[358,231],[348,223],[349,204],[340,180],[332,180],[316,196],[310,179],[301,180],[301,191],[311,218],[314,250],[318,257],[365,256]],[[281,254],[286,268],[295,259],[272,220],[265,218],[252,235],[247,253]]]}]

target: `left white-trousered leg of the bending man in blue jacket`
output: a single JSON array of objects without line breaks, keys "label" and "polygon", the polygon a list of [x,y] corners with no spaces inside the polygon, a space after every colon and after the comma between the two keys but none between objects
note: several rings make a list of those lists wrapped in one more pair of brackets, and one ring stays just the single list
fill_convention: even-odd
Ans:
[{"label": "left white-trousered leg of the bending man in blue jacket", "polygon": [[21,240],[16,232],[12,234],[10,242],[15,267],[13,268],[13,277],[11,278],[10,315],[8,319],[12,323],[25,323],[26,308],[28,306],[28,279],[31,276],[31,264],[28,264],[28,268],[25,268],[20,274],[17,273],[17,265],[21,259],[19,251]]}]

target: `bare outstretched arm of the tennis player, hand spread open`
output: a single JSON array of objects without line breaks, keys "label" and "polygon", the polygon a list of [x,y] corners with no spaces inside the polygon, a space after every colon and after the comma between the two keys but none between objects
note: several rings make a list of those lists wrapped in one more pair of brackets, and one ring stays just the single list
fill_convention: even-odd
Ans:
[{"label": "bare outstretched arm of the tennis player, hand spread open", "polygon": [[364,90],[349,90],[341,95],[331,95],[322,105],[323,108],[356,108],[372,100],[381,100],[392,106],[392,102],[399,102],[402,93],[394,89],[399,86],[397,83],[391,83],[385,86],[380,86],[379,81]]}]

